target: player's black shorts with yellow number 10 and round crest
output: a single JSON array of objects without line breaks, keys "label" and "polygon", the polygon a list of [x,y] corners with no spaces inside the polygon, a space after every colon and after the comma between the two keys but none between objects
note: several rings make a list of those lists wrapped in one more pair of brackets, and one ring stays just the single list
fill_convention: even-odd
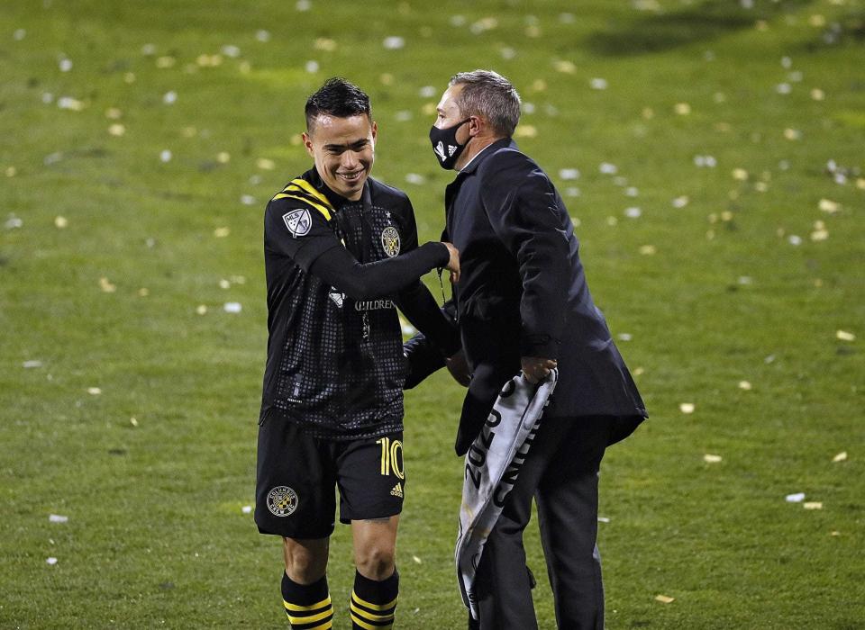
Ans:
[{"label": "player's black shorts with yellow number 10 and round crest", "polygon": [[333,532],[334,488],[340,521],[387,518],[403,509],[402,431],[357,440],[306,435],[268,413],[259,426],[255,523],[262,534],[324,538]]}]

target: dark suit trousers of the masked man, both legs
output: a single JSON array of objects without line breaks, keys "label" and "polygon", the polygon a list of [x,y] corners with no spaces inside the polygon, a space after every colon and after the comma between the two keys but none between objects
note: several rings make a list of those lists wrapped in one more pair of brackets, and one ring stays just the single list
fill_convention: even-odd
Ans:
[{"label": "dark suit trousers of the masked man, both legs", "polygon": [[478,564],[483,630],[537,628],[523,532],[538,506],[560,628],[601,630],[604,586],[597,553],[597,474],[613,419],[544,418]]}]

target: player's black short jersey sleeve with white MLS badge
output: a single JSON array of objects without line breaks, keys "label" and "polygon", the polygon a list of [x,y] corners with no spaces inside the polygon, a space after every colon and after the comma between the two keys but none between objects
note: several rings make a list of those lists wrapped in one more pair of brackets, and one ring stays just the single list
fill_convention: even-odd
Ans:
[{"label": "player's black short jersey sleeve with white MLS badge", "polygon": [[323,213],[296,199],[268,203],[264,212],[264,247],[291,258],[305,272],[333,247],[341,247]]}]

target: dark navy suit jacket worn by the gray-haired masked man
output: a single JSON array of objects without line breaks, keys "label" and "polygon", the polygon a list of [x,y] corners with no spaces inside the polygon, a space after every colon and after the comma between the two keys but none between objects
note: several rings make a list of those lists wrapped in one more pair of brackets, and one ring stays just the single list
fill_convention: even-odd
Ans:
[{"label": "dark navy suit jacket worn by the gray-haired masked man", "polygon": [[541,167],[511,139],[484,149],[445,193],[443,240],[460,249],[454,287],[473,371],[460,419],[464,453],[521,356],[559,362],[545,417],[647,417],[588,291],[564,202]]}]

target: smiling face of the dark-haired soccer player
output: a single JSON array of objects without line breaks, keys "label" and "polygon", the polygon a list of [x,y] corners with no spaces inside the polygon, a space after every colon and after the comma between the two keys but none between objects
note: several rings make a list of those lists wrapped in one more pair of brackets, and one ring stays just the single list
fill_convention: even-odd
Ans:
[{"label": "smiling face of the dark-haired soccer player", "polygon": [[346,199],[357,201],[375,161],[378,127],[366,114],[338,118],[317,116],[304,144],[324,183]]}]

